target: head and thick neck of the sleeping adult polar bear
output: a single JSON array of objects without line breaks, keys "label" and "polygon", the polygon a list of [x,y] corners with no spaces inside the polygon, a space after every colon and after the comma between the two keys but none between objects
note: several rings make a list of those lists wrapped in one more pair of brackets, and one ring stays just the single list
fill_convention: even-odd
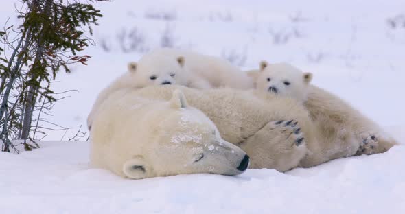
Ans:
[{"label": "head and thick neck of the sleeping adult polar bear", "polygon": [[168,101],[111,93],[91,128],[91,164],[127,178],[176,174],[236,175],[248,156],[224,141],[207,116],[174,91]]}]

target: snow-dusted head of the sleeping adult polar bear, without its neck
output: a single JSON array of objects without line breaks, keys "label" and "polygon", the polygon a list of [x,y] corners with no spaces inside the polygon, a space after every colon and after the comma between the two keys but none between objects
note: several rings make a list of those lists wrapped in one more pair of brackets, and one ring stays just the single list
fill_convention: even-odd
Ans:
[{"label": "snow-dusted head of the sleeping adult polar bear, without its neck", "polygon": [[[181,91],[174,91],[164,104],[152,139],[125,161],[128,178],[211,173],[237,175],[245,171],[249,157],[239,147],[224,141],[213,122],[200,110],[187,105]],[[137,146],[139,145],[131,145]],[[130,150],[130,147],[128,147]]]}]

